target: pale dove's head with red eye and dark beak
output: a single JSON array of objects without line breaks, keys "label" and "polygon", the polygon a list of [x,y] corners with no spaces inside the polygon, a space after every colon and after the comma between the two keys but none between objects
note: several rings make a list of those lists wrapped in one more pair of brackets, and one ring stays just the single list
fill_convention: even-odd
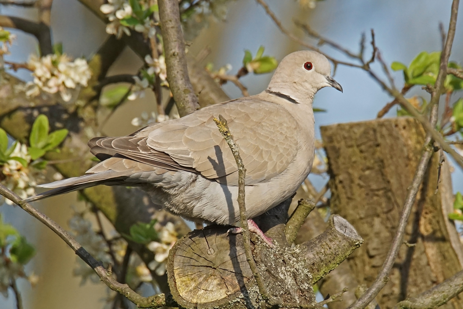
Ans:
[{"label": "pale dove's head with red eye and dark beak", "polygon": [[280,62],[267,90],[289,96],[298,103],[312,102],[321,88],[343,91],[330,74],[331,65],[322,54],[312,50],[295,51]]}]

